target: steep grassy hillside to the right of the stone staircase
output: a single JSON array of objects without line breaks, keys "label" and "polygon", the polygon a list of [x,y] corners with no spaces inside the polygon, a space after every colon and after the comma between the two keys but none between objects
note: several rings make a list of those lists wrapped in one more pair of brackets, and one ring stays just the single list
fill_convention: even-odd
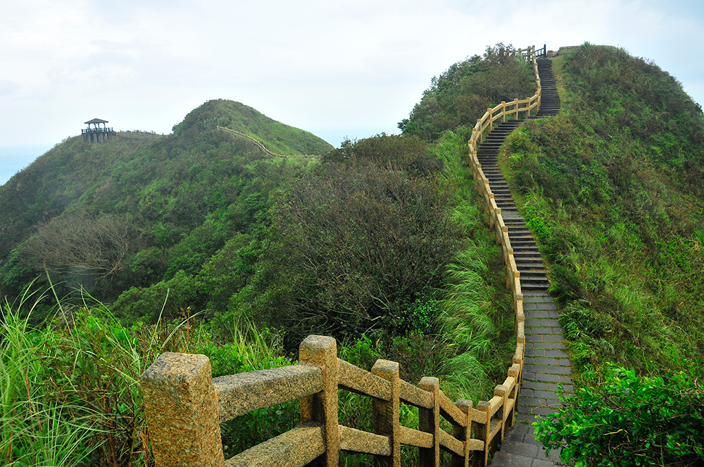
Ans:
[{"label": "steep grassy hillside to the right of the stone staircase", "polygon": [[622,49],[553,60],[562,111],[512,134],[503,167],[548,261],[575,369],[700,368],[704,115]]}]

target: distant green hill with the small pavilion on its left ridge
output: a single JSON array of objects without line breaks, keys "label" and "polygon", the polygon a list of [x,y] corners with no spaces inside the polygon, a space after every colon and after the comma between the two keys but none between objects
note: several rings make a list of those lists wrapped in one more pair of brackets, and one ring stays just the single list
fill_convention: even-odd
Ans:
[{"label": "distant green hill with the small pavilion on its left ridge", "polygon": [[53,281],[79,281],[111,300],[130,286],[198,270],[249,233],[269,193],[308,162],[272,158],[216,125],[275,153],[332,149],[223,100],[204,103],[158,139],[66,139],[0,187],[0,293],[16,296],[46,267]]}]

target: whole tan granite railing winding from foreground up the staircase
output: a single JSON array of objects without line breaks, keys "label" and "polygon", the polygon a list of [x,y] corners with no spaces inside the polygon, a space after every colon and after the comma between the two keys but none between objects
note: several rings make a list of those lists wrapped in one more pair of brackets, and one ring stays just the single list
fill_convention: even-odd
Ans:
[{"label": "whole tan granite railing winding from foreground up the staircase", "polygon": [[[559,109],[559,101],[555,108],[554,101],[548,99],[548,93],[543,96],[537,57],[545,56],[545,52],[545,48],[536,51],[535,47],[518,52],[533,64],[536,93],[522,101],[502,102],[496,108],[488,109],[477,120],[469,141],[472,172],[489,210],[491,228],[496,230],[497,242],[503,246],[507,283],[515,309],[516,347],[513,364],[508,369],[504,382],[496,386],[494,397],[489,401],[478,402],[476,406],[465,399],[453,404],[439,389],[437,378],[422,378],[416,387],[398,377],[398,363],[382,359],[377,360],[371,372],[364,371],[338,359],[335,340],[324,336],[310,335],[303,340],[296,365],[215,379],[212,378],[208,357],[165,353],[153,362],[141,378],[149,437],[157,467],[301,467],[311,462],[337,466],[340,451],[372,454],[381,465],[399,466],[402,444],[419,448],[422,466],[439,466],[441,449],[450,453],[453,466],[466,467],[470,463],[473,466],[486,466],[491,452],[501,445],[514,421],[529,421],[529,418],[522,417],[527,411],[531,415],[537,413],[530,405],[530,400],[519,397],[521,388],[524,392],[529,388],[524,378],[534,382],[536,371],[539,370],[536,367],[539,363],[536,362],[536,357],[524,359],[524,355],[532,355],[530,352],[542,348],[530,336],[553,334],[543,334],[541,323],[531,321],[528,321],[532,326],[531,331],[527,332],[524,300],[528,302],[526,309],[543,310],[547,305],[554,308],[554,304],[524,298],[524,295],[541,296],[532,295],[528,290],[533,290],[531,285],[534,282],[544,282],[544,273],[539,274],[534,253],[526,262],[519,257],[519,244],[522,242],[530,247],[530,251],[534,251],[532,245],[529,245],[528,233],[522,227],[512,224],[517,212],[508,189],[503,189],[508,188],[504,186],[505,182],[494,177],[496,172],[490,170],[488,164],[482,166],[480,161],[484,162],[484,153],[489,148],[492,151],[496,149],[498,153],[500,144],[495,141],[496,137],[503,135],[505,138],[508,129],[520,124],[518,117],[528,118],[532,114],[541,117]],[[545,107],[540,108],[543,97]],[[510,120],[512,117],[513,120]],[[501,123],[495,125],[499,119]],[[479,143],[482,145],[477,153]],[[515,242],[513,246],[512,241]],[[535,271],[536,274],[531,276],[528,271]],[[551,310],[546,312],[552,313]],[[529,313],[529,320],[534,319],[533,312]],[[536,329],[535,334],[533,327]],[[546,343],[557,345],[558,341],[550,338]],[[548,376],[552,374],[549,371],[546,373]],[[558,380],[559,378],[560,376]],[[548,391],[548,385],[545,389]],[[373,433],[339,424],[339,390],[372,398]],[[536,393],[532,392],[532,395],[538,397]],[[220,423],[256,409],[296,399],[301,401],[301,423],[296,428],[257,444],[227,461],[224,459]],[[524,409],[522,403],[527,404],[529,409]],[[401,404],[418,408],[417,428],[401,426]],[[452,433],[441,428],[441,418],[453,427]],[[503,442],[503,446],[511,442],[513,433],[515,430]],[[527,438],[527,432],[522,437]],[[501,456],[503,449],[502,447],[502,451],[496,453],[495,458]],[[537,467],[539,464],[536,462],[541,462],[540,459],[526,459],[532,464],[525,465]],[[511,459],[508,458],[508,461]]]}]

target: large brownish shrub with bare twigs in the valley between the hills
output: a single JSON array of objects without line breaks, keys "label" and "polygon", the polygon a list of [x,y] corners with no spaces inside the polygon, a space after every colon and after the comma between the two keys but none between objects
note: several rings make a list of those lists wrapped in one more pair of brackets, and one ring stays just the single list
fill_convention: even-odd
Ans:
[{"label": "large brownish shrub with bare twigs in the valley between the hills", "polygon": [[294,342],[313,330],[392,331],[425,290],[441,286],[460,241],[449,197],[435,180],[368,162],[321,165],[279,196],[240,305],[287,326]]}]

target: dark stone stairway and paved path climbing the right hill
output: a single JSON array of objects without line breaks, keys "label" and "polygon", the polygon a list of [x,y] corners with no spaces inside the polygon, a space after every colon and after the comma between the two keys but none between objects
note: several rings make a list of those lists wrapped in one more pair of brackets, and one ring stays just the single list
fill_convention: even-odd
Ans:
[{"label": "dark stone stairway and paved path climbing the right hill", "polygon": [[[547,58],[538,61],[538,74],[542,85],[541,106],[532,118],[557,115],[560,111],[552,63]],[[513,256],[520,271],[525,313],[525,358],[523,376],[518,399],[517,423],[505,437],[494,454],[491,466],[551,467],[559,462],[558,452],[546,456],[542,444],[535,440],[536,415],[547,415],[557,411],[558,384],[565,392],[572,392],[572,369],[570,359],[563,350],[562,328],[558,322],[558,311],[553,298],[548,294],[548,278],[543,260],[525,220],[518,213],[501,171],[498,168],[498,151],[506,136],[520,126],[520,120],[502,123],[484,139],[479,146],[477,158],[489,179],[489,186],[501,208],[508,236],[513,247]]]}]

